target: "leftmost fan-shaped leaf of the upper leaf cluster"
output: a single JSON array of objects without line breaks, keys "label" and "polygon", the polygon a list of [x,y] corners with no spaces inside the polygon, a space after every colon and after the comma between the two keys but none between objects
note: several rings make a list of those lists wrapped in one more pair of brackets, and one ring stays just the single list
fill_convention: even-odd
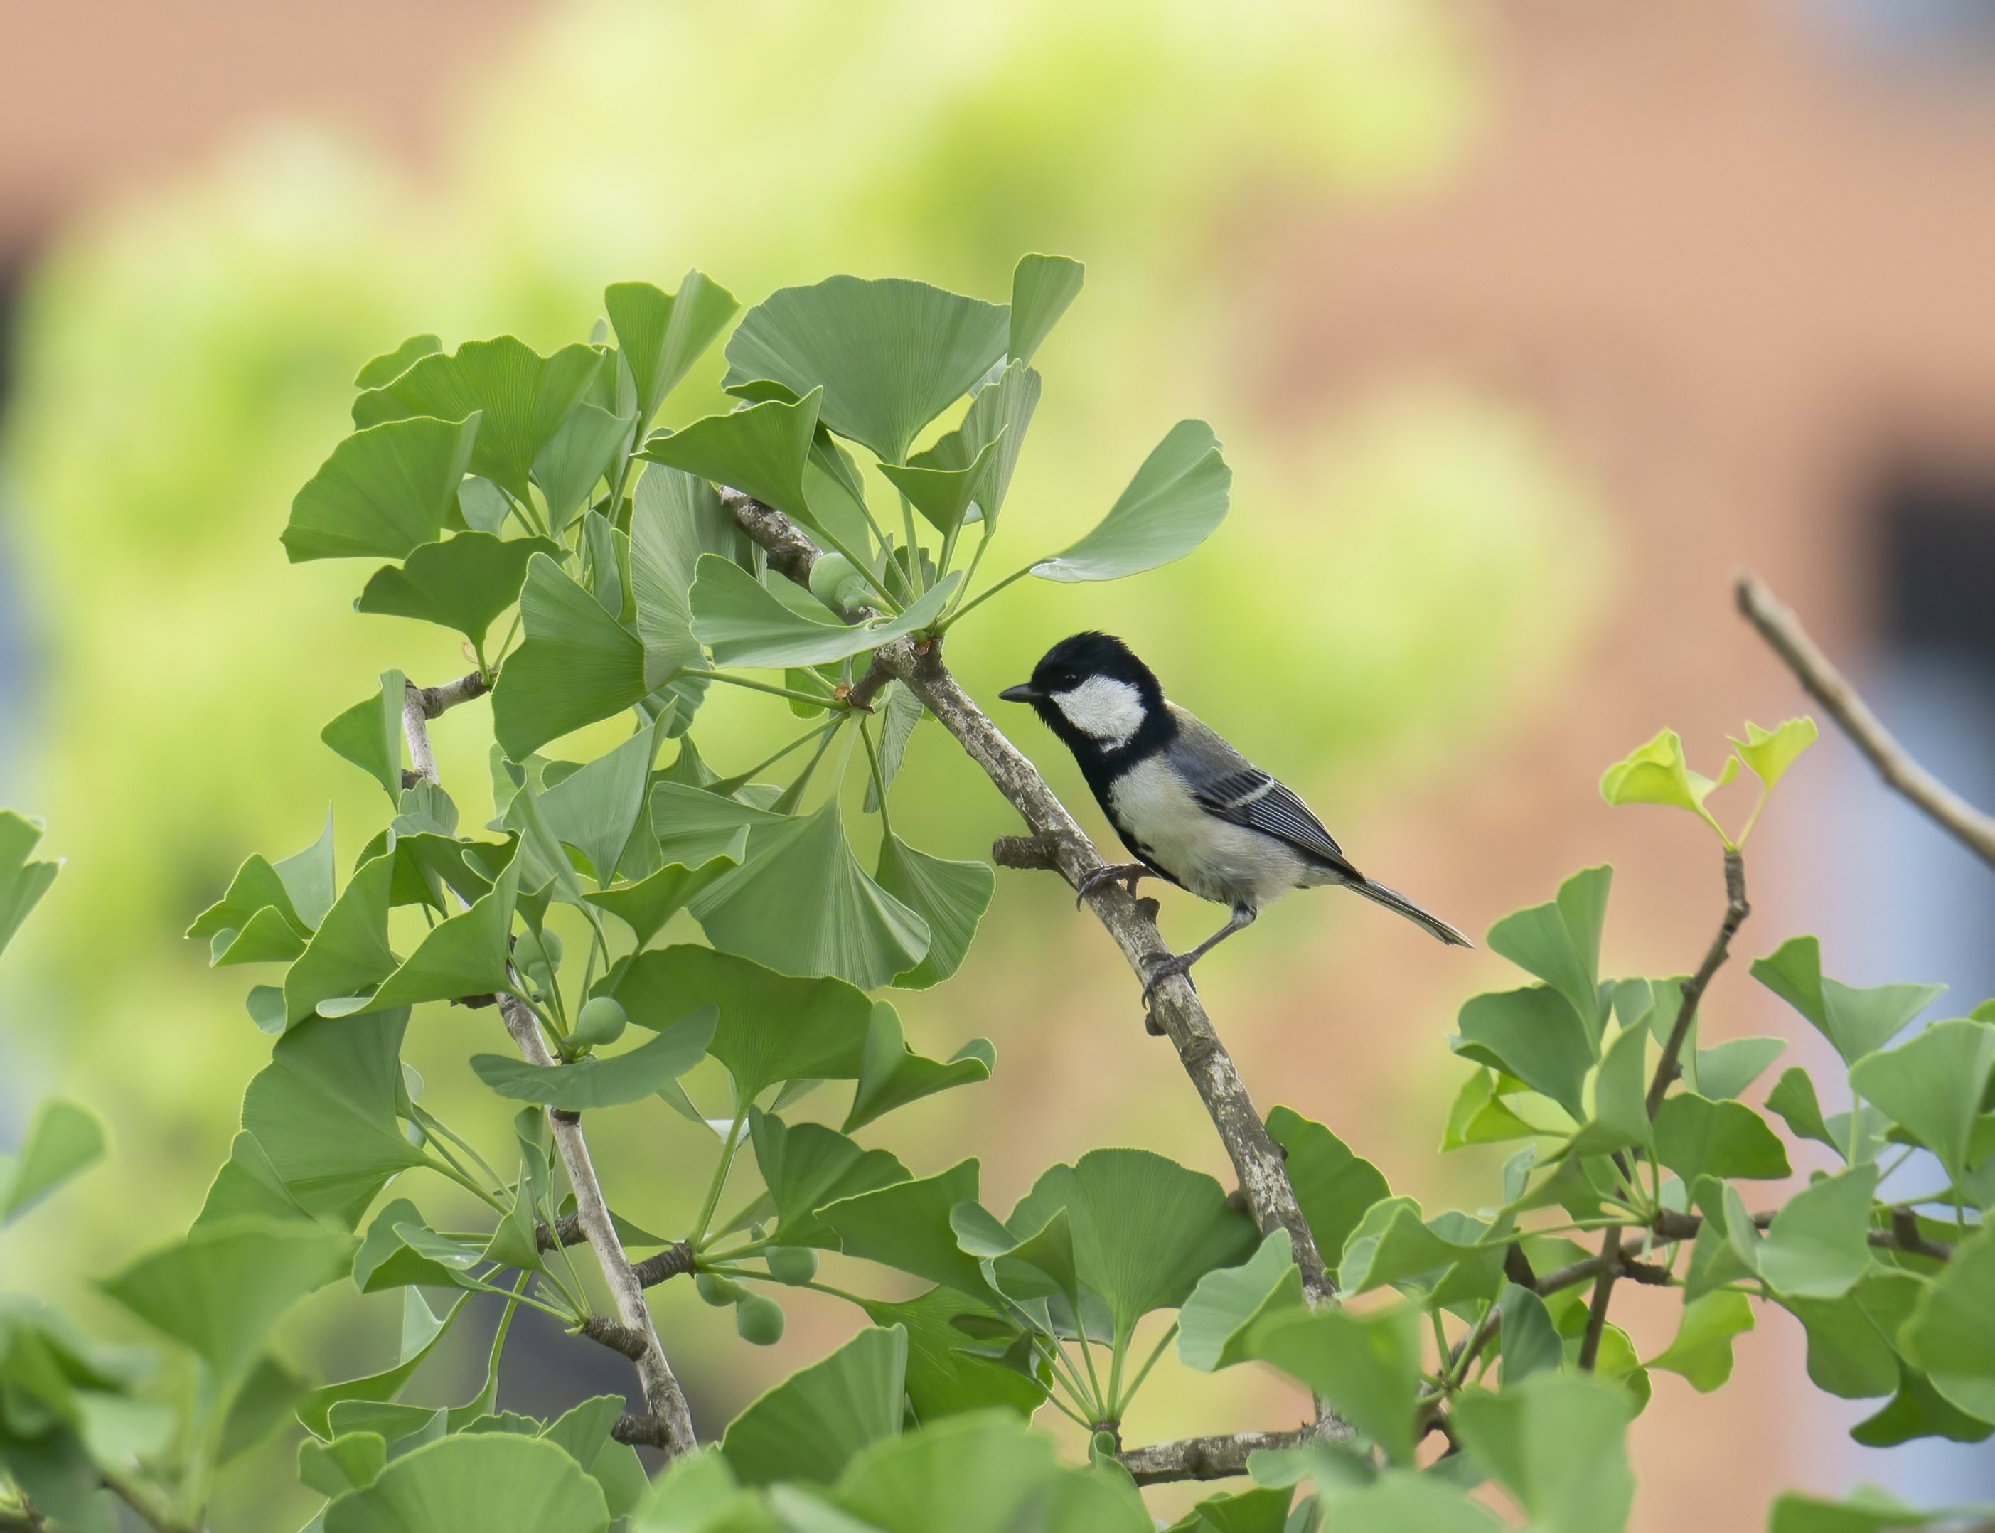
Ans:
[{"label": "leftmost fan-shaped leaf of the upper leaf cluster", "polygon": [[477,451],[473,405],[447,419],[405,411],[341,441],[291,501],[283,551],[307,559],[405,559],[443,537],[457,485]]}]

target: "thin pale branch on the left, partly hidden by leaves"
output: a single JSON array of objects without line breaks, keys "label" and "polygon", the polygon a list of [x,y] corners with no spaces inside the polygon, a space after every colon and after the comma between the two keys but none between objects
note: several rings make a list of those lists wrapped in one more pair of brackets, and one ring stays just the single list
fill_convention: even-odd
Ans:
[{"label": "thin pale branch on the left, partly hidden by leaves", "polygon": [[[447,687],[409,689],[403,707],[403,733],[409,737],[409,761],[415,763],[425,780],[437,780],[437,759],[429,749],[429,721],[483,691],[483,677],[465,677]],[[505,1018],[507,1032],[529,1064],[543,1068],[555,1064],[555,1056],[541,1036],[541,1024],[529,1006],[515,996],[501,996],[499,1014]],[[646,1417],[632,1417],[626,1427],[628,1435],[620,1441],[648,1441],[652,1447],[662,1447],[672,1455],[690,1453],[698,1447],[698,1439],[692,1433],[692,1411],[686,1407],[686,1391],[678,1387],[672,1365],[664,1357],[664,1345],[658,1341],[658,1327],[652,1323],[650,1305],[644,1303],[644,1283],[630,1268],[630,1258],[624,1256],[622,1242],[616,1238],[608,1204],[602,1200],[602,1184],[597,1180],[595,1162],[589,1158],[589,1142],[583,1138],[583,1124],[579,1118],[559,1112],[549,1114],[549,1120],[555,1132],[555,1148],[561,1152],[561,1164],[569,1172],[569,1186],[575,1188],[575,1220],[587,1236],[589,1248],[597,1254],[602,1281],[610,1291],[610,1301],[616,1305],[616,1329],[608,1331],[598,1323],[598,1335],[593,1335],[593,1339],[620,1341],[614,1349],[622,1351],[636,1365],[638,1381],[644,1387],[644,1403],[650,1409],[648,1425]],[[597,1317],[593,1315],[591,1319]]]}]

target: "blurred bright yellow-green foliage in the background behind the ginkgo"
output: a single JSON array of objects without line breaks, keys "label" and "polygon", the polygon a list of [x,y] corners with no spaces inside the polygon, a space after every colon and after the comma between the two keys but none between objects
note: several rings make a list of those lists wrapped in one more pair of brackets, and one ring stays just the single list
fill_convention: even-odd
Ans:
[{"label": "blurred bright yellow-green foliage in the background behind the ginkgo", "polygon": [[[1534,423],[1492,399],[1406,379],[1327,399],[1269,355],[1313,269],[1279,259],[1285,222],[1448,176],[1480,90],[1428,0],[587,0],[481,80],[421,178],[269,130],[76,228],[34,275],[4,435],[38,661],[30,711],[6,729],[12,796],[70,866],[4,978],[0,1090],[16,1110],[42,1090],[80,1096],[120,1144],[112,1170],[0,1248],[0,1281],[88,1309],[74,1278],[192,1218],[267,1040],[243,1014],[245,978],[209,972],[182,928],[243,854],[311,840],[327,802],[351,862],[379,790],[319,745],[321,723],[389,665],[419,681],[467,669],[437,629],[351,613],[355,567],[291,569],[277,545],[291,493],[349,429],[355,367],[405,333],[513,331],[549,349],[587,337],[606,281],[672,287],[694,263],[752,303],[830,271],[999,299],[1019,252],[1085,259],[1087,287],[1039,357],[1045,399],[992,569],[1091,525],[1181,415],[1223,439],[1233,513],[1161,573],[1015,587],[954,643],[972,691],[990,699],[1049,641],[1105,627],[1333,826],[1472,770],[1584,639],[1610,557],[1602,517]],[[714,353],[666,421],[718,407],[718,373]],[[762,703],[706,705],[710,761],[738,768],[788,733]],[[437,741],[467,820],[489,812],[473,713]],[[1085,804],[1063,751],[1001,723]],[[940,854],[1015,828],[940,735],[918,737],[902,782],[896,822]],[[1091,804],[1083,818],[1099,822]],[[1347,914],[1327,906],[1283,912],[1229,962],[1279,976]],[[1165,920],[1191,938],[1207,912],[1167,904]],[[896,1116],[904,1160],[926,1174],[982,1154],[988,1202],[1091,1144],[1223,1172],[1175,1064],[1121,1066],[1143,1042],[1115,968],[1057,888],[999,878],[964,974],[902,1004],[924,1052],[992,1036],[998,1078]],[[493,1014],[433,1010],[411,1028],[433,1104],[497,1132],[503,1108],[461,1064]],[[1438,1026],[1414,1032],[1436,1064]],[[1251,1086],[1307,1104],[1307,1082]],[[612,1194],[672,1228],[674,1160],[704,1164],[700,1130],[662,1110],[604,1128]],[[762,1353],[724,1321],[680,1325],[688,1299],[662,1301],[664,1329],[708,1427],[858,1321],[830,1301],[798,1309]],[[385,1353],[379,1303],[363,1315],[321,1295],[301,1353]],[[1183,1419],[1171,1389],[1151,1395],[1135,1437],[1233,1425],[1203,1419],[1229,1407],[1209,1381],[1183,1393],[1199,1401]],[[277,1505],[283,1475],[261,1475],[243,1505]]]}]

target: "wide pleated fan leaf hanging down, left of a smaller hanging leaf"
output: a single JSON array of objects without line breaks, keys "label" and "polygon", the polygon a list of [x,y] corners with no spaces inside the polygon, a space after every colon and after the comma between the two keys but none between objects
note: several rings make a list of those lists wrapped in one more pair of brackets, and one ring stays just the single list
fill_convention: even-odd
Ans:
[{"label": "wide pleated fan leaf hanging down, left of a smaller hanging leaf", "polygon": [[928,922],[866,876],[838,800],[760,824],[748,860],[690,904],[706,938],[782,974],[888,984],[928,954]]}]

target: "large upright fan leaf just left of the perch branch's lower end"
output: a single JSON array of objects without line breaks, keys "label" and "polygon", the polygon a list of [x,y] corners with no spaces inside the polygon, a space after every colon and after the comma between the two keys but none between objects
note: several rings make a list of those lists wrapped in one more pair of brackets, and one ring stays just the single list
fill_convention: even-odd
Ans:
[{"label": "large upright fan leaf just left of the perch branch's lower end", "polygon": [[1073,1222],[1081,1287],[1107,1301],[1117,1335],[1151,1309],[1181,1305],[1199,1278],[1245,1262],[1259,1244],[1225,1188],[1149,1150],[1091,1150],[1053,1166],[1005,1224],[1043,1228],[1061,1208]]}]

